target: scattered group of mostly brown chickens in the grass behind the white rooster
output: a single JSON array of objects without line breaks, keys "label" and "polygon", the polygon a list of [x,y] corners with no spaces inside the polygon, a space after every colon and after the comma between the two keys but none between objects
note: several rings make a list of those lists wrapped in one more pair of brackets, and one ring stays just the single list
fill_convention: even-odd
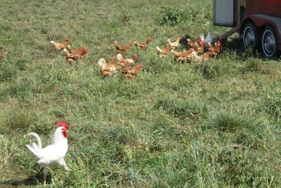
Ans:
[{"label": "scattered group of mostly brown chickens in the grass behind the white rooster", "polygon": [[[157,54],[160,57],[165,58],[168,57],[170,53],[172,53],[174,55],[174,60],[177,63],[196,62],[215,58],[221,51],[220,42],[215,42],[214,45],[212,45],[213,37],[210,32],[208,32],[206,38],[204,38],[203,34],[199,34],[199,36],[200,37],[196,41],[187,39],[189,50],[179,52],[175,51],[175,49],[180,45],[181,37],[177,38],[177,40],[174,42],[171,42],[171,39],[169,38],[165,49],[160,49],[158,46],[156,47]],[[88,50],[84,46],[82,46],[78,50],[73,50],[70,45],[67,45],[68,41],[69,38],[66,38],[63,43],[55,43],[54,41],[51,41],[51,44],[56,50],[63,49],[68,62],[74,62],[83,59],[83,55],[86,54]],[[117,41],[115,41],[117,55],[114,55],[108,63],[106,62],[105,58],[100,58],[98,60],[97,66],[99,68],[101,76],[113,76],[121,67],[121,73],[125,77],[134,79],[139,74],[139,69],[142,66],[142,62],[139,62],[137,65],[135,65],[138,54],[134,54],[133,57],[127,59],[123,58],[122,55],[125,55],[133,46],[133,44],[135,44],[135,46],[139,50],[143,51],[148,48],[149,43],[152,41],[153,38],[149,38],[144,43],[139,43],[138,41],[135,41],[135,43],[133,43],[132,41],[130,41],[127,46],[121,46]],[[66,45],[69,50],[66,49]]]}]

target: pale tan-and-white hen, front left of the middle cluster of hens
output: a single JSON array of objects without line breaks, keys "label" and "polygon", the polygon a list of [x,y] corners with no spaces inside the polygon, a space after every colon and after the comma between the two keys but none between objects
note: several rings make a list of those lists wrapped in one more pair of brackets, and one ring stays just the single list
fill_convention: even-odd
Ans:
[{"label": "pale tan-and-white hen, front left of the middle cluster of hens", "polygon": [[101,76],[113,76],[118,72],[119,66],[121,64],[124,64],[125,59],[121,59],[116,64],[114,64],[115,58],[116,57],[113,56],[108,64],[106,63],[105,58],[100,58],[98,60],[97,66]]}]

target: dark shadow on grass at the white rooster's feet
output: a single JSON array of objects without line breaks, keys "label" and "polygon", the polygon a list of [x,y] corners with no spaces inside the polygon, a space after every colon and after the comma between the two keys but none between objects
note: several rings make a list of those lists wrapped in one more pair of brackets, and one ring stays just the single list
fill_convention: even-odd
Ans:
[{"label": "dark shadow on grass at the white rooster's feet", "polygon": [[[12,187],[21,187],[21,186],[37,186],[40,182],[43,185],[43,169],[37,172],[35,175],[32,175],[26,179],[16,180],[8,179],[0,181],[0,188],[12,188]],[[47,175],[47,184],[51,182],[50,174]],[[39,183],[38,183],[39,182]]]}]

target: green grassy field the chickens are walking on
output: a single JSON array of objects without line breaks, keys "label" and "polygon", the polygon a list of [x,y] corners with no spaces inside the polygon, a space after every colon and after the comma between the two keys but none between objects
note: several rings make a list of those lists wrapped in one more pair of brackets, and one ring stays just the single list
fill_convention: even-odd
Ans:
[{"label": "green grassy field the chickens are walking on", "polygon": [[[281,187],[279,58],[245,51],[237,34],[210,61],[156,54],[168,38],[228,31],[212,25],[212,0],[2,0],[0,12],[0,187],[42,186],[26,134],[47,146],[59,120],[73,171],[55,168],[49,187]],[[51,48],[67,37],[89,50],[82,61]],[[115,40],[149,37],[125,55],[143,63],[136,79],[99,75]]]}]

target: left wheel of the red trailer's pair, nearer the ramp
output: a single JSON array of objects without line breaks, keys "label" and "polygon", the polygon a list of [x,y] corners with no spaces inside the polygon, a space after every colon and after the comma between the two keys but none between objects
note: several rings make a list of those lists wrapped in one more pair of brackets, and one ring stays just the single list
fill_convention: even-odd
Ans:
[{"label": "left wheel of the red trailer's pair, nearer the ramp", "polygon": [[243,30],[243,42],[246,49],[256,51],[259,47],[258,29],[253,23],[247,23]]}]

